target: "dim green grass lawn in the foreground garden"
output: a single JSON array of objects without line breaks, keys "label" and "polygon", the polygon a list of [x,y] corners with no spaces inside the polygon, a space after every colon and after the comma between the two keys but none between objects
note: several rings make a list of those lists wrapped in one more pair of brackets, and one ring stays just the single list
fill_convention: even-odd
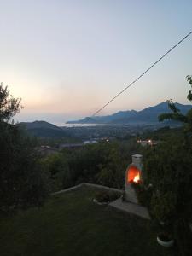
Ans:
[{"label": "dim green grass lawn in the foreground garden", "polygon": [[40,209],[1,219],[0,255],[176,255],[157,244],[150,221],[96,205],[95,192],[55,195]]}]

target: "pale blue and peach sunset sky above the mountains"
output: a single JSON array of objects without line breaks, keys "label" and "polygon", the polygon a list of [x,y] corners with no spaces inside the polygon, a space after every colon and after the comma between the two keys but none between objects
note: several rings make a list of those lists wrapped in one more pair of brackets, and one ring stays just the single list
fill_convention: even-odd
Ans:
[{"label": "pale blue and peach sunset sky above the mountains", "polygon": [[[0,0],[0,82],[16,121],[90,116],[192,31],[191,0]],[[99,115],[189,103],[192,35]]]}]

